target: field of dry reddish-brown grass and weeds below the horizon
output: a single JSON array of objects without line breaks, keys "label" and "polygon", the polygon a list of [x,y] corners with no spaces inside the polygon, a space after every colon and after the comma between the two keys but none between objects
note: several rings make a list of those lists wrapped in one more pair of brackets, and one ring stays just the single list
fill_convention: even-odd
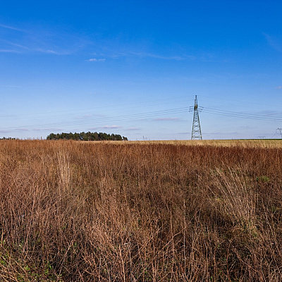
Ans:
[{"label": "field of dry reddish-brown grass and weeds below the horizon", "polygon": [[0,142],[0,281],[282,281],[282,141]]}]

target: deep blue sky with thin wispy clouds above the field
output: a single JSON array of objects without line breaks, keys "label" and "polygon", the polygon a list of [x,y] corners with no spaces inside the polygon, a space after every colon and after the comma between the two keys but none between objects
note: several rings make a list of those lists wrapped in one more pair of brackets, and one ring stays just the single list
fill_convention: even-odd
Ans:
[{"label": "deep blue sky with thin wispy clouds above the field", "polygon": [[1,1],[0,137],[279,137],[282,1]]}]

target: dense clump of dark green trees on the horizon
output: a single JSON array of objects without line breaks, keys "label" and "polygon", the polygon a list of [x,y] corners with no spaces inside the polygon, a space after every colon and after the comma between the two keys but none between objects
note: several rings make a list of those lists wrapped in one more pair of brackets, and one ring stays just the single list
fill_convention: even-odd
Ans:
[{"label": "dense clump of dark green trees on the horizon", "polygon": [[119,134],[107,134],[107,133],[50,133],[47,140],[81,140],[81,141],[101,141],[101,140],[113,140],[113,141],[124,141],[128,140],[127,137]]}]

